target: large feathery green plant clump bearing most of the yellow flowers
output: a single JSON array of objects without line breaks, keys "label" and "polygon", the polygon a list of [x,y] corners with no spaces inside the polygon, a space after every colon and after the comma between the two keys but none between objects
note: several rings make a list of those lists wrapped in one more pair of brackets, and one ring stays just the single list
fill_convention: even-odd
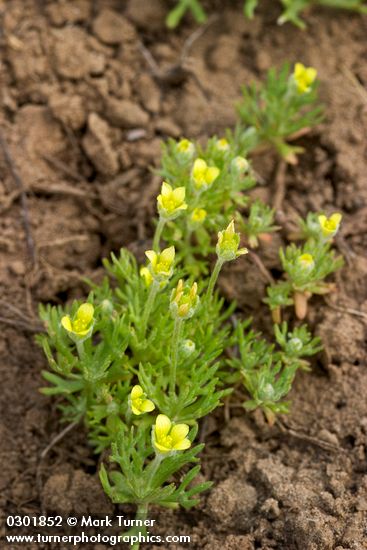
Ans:
[{"label": "large feathery green plant clump bearing most of the yellow flowers", "polygon": [[[241,381],[250,397],[244,408],[261,408],[274,422],[288,412],[297,370],[320,349],[306,326],[276,326],[275,343],[249,321],[237,320],[233,330],[235,304],[215,290],[223,265],[248,252],[235,222],[251,247],[277,229],[273,210],[246,195],[256,183],[247,155],[260,130],[238,127],[205,146],[169,140],[146,263],[121,249],[104,261],[103,282],[89,283],[86,301],[40,307],[46,333],[37,340],[49,363],[41,391],[58,396],[64,422],[83,422],[96,453],[112,449],[101,482],[113,502],[136,505],[140,534],[151,504],[189,508],[210,487],[192,483],[203,448],[194,444],[200,419]],[[340,219],[309,215],[296,235],[304,245],[281,251],[286,278],[265,299],[275,321],[293,303],[302,317],[299,296],[307,302],[331,289],[324,279],[341,265],[331,249]],[[233,350],[238,357],[228,360]]]}]

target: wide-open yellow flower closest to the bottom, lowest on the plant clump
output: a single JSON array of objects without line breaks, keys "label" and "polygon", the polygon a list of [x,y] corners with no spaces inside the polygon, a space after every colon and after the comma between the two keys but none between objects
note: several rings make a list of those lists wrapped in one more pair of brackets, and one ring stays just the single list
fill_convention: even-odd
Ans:
[{"label": "wide-open yellow flower closest to the bottom, lowest on the plant clump", "polygon": [[191,441],[186,437],[188,433],[187,424],[172,425],[168,416],[159,414],[153,426],[153,445],[163,454],[185,451],[191,447]]}]

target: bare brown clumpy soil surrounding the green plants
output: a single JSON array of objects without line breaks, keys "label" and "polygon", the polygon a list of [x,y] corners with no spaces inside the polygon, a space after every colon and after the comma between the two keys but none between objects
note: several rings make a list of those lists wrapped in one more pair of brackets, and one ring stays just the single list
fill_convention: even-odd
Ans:
[{"label": "bare brown clumpy soil surrounding the green plants", "polygon": [[[285,219],[319,209],[344,215],[338,246],[346,267],[335,295],[328,304],[314,300],[308,318],[325,351],[298,376],[282,424],[270,429],[261,414],[246,415],[243,396],[232,397],[229,423],[224,409],[210,417],[203,477],[215,488],[195,510],[150,516],[154,534],[189,534],[193,549],[367,548],[367,21],[319,10],[302,32],[275,25],[275,2],[262,2],[252,22],[240,4],[206,3],[219,18],[178,71],[196,27],[188,20],[168,32],[169,2],[0,0],[1,131],[24,184],[37,254],[32,267],[21,190],[1,153],[2,517],[117,512],[81,428],[40,460],[60,425],[57,403],[38,393],[46,361],[33,341],[37,303],[84,295],[82,277],[98,280],[111,250],[147,248],[161,139],[221,134],[235,123],[242,84],[300,60],[319,71],[327,120],[300,141],[307,152],[287,172]],[[141,44],[157,61],[155,79]],[[271,203],[277,161],[264,155],[255,166],[264,181],[255,194]],[[282,242],[283,232],[261,250],[274,274]],[[240,260],[221,284],[239,313],[255,314],[267,331],[266,281],[256,267]]]}]

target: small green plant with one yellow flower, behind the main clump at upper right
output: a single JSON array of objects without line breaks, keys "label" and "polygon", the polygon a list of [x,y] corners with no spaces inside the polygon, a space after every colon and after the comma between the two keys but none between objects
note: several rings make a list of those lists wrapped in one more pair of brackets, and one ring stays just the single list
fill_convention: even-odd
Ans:
[{"label": "small green plant with one yellow flower, behind the main clump at upper right", "polygon": [[265,83],[243,88],[237,111],[246,131],[252,129],[257,147],[274,147],[287,162],[297,162],[303,149],[289,141],[322,120],[316,75],[313,67],[296,63],[291,72],[285,63],[279,72],[270,69]]}]

